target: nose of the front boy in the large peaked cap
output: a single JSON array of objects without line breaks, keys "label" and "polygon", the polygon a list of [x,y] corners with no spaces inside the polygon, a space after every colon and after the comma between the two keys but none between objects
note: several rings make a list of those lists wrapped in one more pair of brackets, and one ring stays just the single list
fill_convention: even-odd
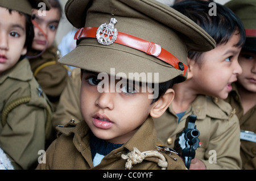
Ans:
[{"label": "nose of the front boy in the large peaked cap", "polygon": [[96,106],[100,107],[101,109],[109,109],[113,110],[114,108],[114,95],[115,92],[102,92],[98,96],[98,99],[96,100]]}]

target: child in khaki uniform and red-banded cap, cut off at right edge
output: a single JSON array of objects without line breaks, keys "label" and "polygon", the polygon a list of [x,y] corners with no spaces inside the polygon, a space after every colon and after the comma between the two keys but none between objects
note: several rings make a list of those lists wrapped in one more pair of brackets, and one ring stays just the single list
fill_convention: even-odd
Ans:
[{"label": "child in khaki uniform and red-banded cap, cut off at right edge", "polygon": [[245,45],[238,62],[242,74],[232,84],[228,101],[240,120],[242,169],[256,169],[256,1],[230,1],[225,4],[243,22]]}]

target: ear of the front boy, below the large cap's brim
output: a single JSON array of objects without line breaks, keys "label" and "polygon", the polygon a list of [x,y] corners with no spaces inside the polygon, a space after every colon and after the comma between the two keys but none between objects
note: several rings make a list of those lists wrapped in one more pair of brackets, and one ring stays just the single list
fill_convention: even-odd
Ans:
[{"label": "ear of the front boy, below the large cap's brim", "polygon": [[162,116],[163,113],[167,110],[167,108],[172,103],[172,100],[174,100],[174,90],[168,89],[163,96],[161,96],[155,103],[153,103],[153,106],[150,111],[150,116],[152,117]]}]

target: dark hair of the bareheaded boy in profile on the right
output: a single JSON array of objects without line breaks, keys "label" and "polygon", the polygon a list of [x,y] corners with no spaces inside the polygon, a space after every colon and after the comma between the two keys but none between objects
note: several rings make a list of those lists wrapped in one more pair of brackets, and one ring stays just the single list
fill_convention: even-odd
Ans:
[{"label": "dark hair of the bareheaded boy in profile on the right", "polygon": [[[240,33],[240,40],[236,44],[237,47],[242,47],[245,43],[245,28],[243,23],[236,14],[228,7],[216,4],[216,16],[210,16],[210,2],[206,1],[183,1],[172,6],[175,10],[184,14],[193,22],[197,23],[216,41],[216,45],[225,44],[228,42],[234,32]],[[193,60],[199,59],[201,52],[189,51],[188,57]],[[201,62],[197,62],[199,65]]]}]

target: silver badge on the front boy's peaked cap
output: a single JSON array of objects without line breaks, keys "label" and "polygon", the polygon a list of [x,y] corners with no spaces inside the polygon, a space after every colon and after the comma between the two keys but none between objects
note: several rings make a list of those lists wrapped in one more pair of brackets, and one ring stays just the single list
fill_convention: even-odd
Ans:
[{"label": "silver badge on the front boy's peaked cap", "polygon": [[101,24],[98,27],[96,38],[98,43],[102,45],[111,45],[117,40],[117,28],[114,28],[115,23],[117,23],[117,19],[111,18],[109,24]]}]

